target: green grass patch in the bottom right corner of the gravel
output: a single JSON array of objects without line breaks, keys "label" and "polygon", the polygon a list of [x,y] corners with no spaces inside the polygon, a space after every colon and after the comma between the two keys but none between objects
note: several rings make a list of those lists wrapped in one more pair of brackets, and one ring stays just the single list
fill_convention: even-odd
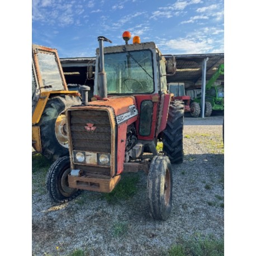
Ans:
[{"label": "green grass patch in the bottom right corner of the gravel", "polygon": [[222,256],[224,255],[224,240],[211,236],[203,238],[201,235],[193,236],[188,240],[181,239],[169,250],[169,256]]}]

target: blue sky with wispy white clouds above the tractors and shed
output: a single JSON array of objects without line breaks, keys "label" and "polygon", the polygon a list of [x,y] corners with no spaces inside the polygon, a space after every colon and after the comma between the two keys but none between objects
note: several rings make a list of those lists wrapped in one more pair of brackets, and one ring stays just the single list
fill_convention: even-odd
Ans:
[{"label": "blue sky with wispy white clouds above the tractors and shed", "polygon": [[98,36],[124,44],[126,30],[163,54],[224,53],[224,0],[32,0],[32,43],[60,58],[94,56]]}]

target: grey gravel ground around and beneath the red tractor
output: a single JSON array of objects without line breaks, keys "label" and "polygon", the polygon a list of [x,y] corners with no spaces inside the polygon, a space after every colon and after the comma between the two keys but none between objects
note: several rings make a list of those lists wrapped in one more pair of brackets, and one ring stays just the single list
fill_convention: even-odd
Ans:
[{"label": "grey gravel ground around and beneath the red tractor", "polygon": [[200,119],[185,118],[184,162],[172,165],[173,205],[167,221],[148,214],[144,172],[133,174],[139,176],[138,191],[127,200],[108,203],[101,193],[84,191],[60,206],[44,191],[45,174],[34,172],[32,180],[41,182],[32,184],[32,255],[69,255],[76,248],[87,255],[162,255],[195,233],[223,238],[222,117]]}]

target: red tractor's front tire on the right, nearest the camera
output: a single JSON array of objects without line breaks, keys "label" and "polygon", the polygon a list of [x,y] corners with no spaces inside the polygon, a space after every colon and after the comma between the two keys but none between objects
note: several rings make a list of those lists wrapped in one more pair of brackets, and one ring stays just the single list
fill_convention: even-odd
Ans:
[{"label": "red tractor's front tire on the right, nearest the camera", "polygon": [[153,158],[148,174],[147,197],[149,214],[154,220],[167,220],[172,209],[172,165],[166,155]]}]

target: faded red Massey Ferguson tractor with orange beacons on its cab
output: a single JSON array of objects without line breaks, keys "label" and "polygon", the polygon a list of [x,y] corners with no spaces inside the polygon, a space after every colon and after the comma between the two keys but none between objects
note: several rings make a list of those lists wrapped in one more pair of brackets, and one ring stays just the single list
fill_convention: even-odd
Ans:
[{"label": "faded red Massey Ferguson tractor with orange beacons on its cab", "polygon": [[[172,207],[172,165],[183,162],[184,103],[167,92],[166,71],[176,63],[166,61],[154,42],[103,48],[111,42],[99,36],[94,97],[66,111],[69,157],[54,162],[46,177],[51,200],[63,203],[81,189],[109,193],[123,172],[147,170],[149,213],[166,220]],[[135,40],[136,39],[136,40]],[[167,69],[167,70],[166,70]],[[158,154],[157,141],[163,141]],[[141,160],[145,149],[151,162]],[[137,160],[137,161],[134,161]]]}]

